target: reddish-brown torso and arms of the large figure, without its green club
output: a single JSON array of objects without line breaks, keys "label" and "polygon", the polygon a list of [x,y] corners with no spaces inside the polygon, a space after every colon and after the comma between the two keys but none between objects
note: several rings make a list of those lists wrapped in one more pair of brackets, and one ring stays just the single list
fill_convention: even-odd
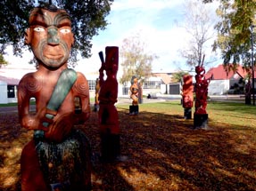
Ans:
[{"label": "reddish-brown torso and arms of the large figure, without its green club", "polygon": [[[21,79],[19,84],[19,104],[21,126],[27,129],[37,130],[44,121],[46,105],[52,96],[55,84],[58,81],[56,71],[47,72],[38,70],[35,73],[29,73]],[[70,133],[72,126],[77,123],[75,111],[75,97],[83,101],[83,119],[85,121],[89,116],[88,86],[85,76],[78,73],[78,79],[64,99],[62,106],[54,116],[53,123],[50,124],[49,131],[45,131],[45,138],[60,141]],[[29,100],[36,99],[36,115],[29,114]]]}]

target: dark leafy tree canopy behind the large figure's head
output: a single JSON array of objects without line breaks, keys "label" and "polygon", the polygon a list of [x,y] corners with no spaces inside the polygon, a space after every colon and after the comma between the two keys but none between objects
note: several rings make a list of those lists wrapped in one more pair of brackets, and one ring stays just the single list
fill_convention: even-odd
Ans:
[{"label": "dark leafy tree canopy behind the large figure's head", "polygon": [[7,45],[12,45],[13,54],[22,54],[24,31],[29,25],[29,12],[35,6],[54,4],[70,13],[72,31],[76,43],[71,58],[81,52],[82,57],[91,55],[92,37],[107,26],[105,17],[111,10],[113,0],[5,0],[0,1],[0,53],[4,54]]}]

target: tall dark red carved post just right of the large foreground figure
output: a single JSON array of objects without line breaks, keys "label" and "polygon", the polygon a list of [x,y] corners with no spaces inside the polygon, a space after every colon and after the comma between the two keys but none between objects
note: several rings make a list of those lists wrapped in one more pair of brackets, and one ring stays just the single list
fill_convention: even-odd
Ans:
[{"label": "tall dark red carved post just right of the large foreground figure", "polygon": [[[102,67],[100,68],[99,93],[99,127],[101,136],[102,159],[113,162],[120,155],[120,125],[119,115],[115,107],[118,99],[117,72],[119,68],[119,48],[115,46],[105,48],[106,59],[100,52]],[[104,73],[107,78],[104,80]]]}]

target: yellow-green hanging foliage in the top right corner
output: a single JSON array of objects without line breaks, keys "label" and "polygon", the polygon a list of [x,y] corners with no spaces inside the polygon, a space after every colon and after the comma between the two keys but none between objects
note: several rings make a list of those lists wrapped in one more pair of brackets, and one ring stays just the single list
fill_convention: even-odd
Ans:
[{"label": "yellow-green hanging foliage in the top right corner", "polygon": [[[255,0],[221,1],[217,13],[220,18],[216,26],[219,36],[215,41],[214,49],[221,50],[224,64],[228,67],[233,68],[242,62],[244,67],[248,68],[251,66],[253,32],[251,26],[256,24]],[[255,35],[253,44],[255,44]]]}]

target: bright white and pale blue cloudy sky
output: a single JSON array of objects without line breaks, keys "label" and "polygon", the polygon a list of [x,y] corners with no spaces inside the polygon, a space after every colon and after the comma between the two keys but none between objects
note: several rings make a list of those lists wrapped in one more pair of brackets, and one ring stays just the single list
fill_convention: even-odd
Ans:
[{"label": "bright white and pale blue cloudy sky", "polygon": [[[147,52],[159,57],[153,61],[153,72],[188,69],[185,60],[178,53],[187,42],[185,29],[178,27],[183,22],[186,1],[192,0],[115,0],[107,16],[109,25],[93,38],[92,57],[79,60],[76,69],[84,74],[97,72],[101,66],[98,52],[104,52],[105,46],[120,47],[124,38],[136,33],[143,37]],[[212,12],[215,12],[216,4],[207,6],[212,7]],[[33,68],[25,64],[32,57],[31,53],[25,53],[22,59],[15,58],[11,52],[5,59],[12,63],[10,67]]]}]

